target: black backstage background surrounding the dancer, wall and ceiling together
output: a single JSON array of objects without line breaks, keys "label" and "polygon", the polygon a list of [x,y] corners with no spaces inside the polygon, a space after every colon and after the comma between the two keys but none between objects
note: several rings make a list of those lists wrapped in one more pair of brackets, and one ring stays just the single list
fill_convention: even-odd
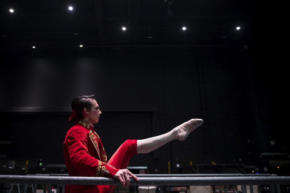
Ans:
[{"label": "black backstage background surrounding the dancer, wall and ceiling together", "polygon": [[278,119],[286,106],[277,88],[284,87],[281,57],[278,43],[265,40],[274,29],[260,30],[258,3],[82,1],[70,2],[73,14],[65,1],[1,3],[1,165],[15,161],[24,173],[28,160],[29,174],[66,173],[49,165],[64,162],[71,101],[94,94],[102,111],[95,130],[108,158],[127,138],[202,118],[185,141],[129,165],[151,174],[289,175],[287,126]]}]

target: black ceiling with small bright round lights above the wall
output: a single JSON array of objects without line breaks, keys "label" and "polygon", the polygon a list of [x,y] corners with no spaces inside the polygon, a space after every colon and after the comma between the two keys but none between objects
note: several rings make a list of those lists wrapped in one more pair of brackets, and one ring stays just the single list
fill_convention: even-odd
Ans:
[{"label": "black ceiling with small bright round lights above the wall", "polygon": [[244,46],[254,8],[242,0],[2,0],[1,49]]}]

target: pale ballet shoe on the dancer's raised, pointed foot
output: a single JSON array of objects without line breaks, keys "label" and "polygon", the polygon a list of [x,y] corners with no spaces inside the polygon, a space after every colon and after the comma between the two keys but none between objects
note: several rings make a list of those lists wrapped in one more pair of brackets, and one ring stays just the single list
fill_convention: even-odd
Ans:
[{"label": "pale ballet shoe on the dancer's raised, pointed foot", "polygon": [[179,125],[178,128],[178,134],[177,139],[180,141],[185,140],[189,133],[191,133],[193,130],[195,130],[198,126],[201,126],[203,123],[202,119],[191,119],[185,123],[182,123]]}]

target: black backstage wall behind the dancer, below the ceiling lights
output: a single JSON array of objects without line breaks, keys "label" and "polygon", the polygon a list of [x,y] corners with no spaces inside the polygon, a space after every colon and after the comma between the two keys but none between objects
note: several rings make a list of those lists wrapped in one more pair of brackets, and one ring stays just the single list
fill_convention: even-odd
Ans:
[{"label": "black backstage wall behind the dancer, below the ceiling lights", "polygon": [[[177,159],[184,167],[214,161],[263,168],[269,164],[262,152],[289,151],[273,135],[270,98],[267,90],[261,94],[263,82],[246,50],[23,54],[6,55],[4,61],[0,140],[12,142],[3,150],[4,164],[35,165],[39,158],[63,164],[71,101],[82,94],[94,94],[100,105],[97,133],[109,156],[126,138],[151,137],[190,118],[204,119],[187,140],[132,159],[132,166],[148,166],[150,173],[167,173],[168,161],[171,173],[179,173]],[[36,110],[23,112],[26,107]]]}]

